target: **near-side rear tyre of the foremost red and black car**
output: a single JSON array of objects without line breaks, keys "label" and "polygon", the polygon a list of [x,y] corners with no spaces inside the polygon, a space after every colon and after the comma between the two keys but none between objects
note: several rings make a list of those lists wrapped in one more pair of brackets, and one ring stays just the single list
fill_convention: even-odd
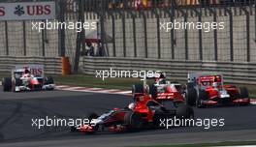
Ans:
[{"label": "near-side rear tyre of the foremost red and black car", "polygon": [[[179,126],[189,127],[190,120],[194,119],[194,110],[187,104],[182,104],[176,108],[176,120],[179,122]],[[189,119],[189,120],[188,120]],[[187,121],[188,120],[188,121]]]}]

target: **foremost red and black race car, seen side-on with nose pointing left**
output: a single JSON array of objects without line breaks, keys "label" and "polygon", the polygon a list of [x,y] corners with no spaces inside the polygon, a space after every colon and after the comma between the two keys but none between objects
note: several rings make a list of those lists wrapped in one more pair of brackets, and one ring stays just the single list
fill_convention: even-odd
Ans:
[{"label": "foremost red and black race car, seen side-on with nose pointing left", "polygon": [[137,94],[136,101],[123,109],[113,108],[111,111],[98,116],[91,113],[89,124],[71,128],[72,132],[124,132],[146,128],[159,128],[160,119],[166,118],[193,119],[194,111],[191,107],[174,103],[174,107],[165,107],[151,99],[150,96]]}]

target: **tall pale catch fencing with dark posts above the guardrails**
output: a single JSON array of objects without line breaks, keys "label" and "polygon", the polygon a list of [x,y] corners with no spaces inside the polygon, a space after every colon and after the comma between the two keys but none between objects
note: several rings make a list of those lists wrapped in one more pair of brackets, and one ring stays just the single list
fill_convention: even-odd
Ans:
[{"label": "tall pale catch fencing with dark posts above the guardrails", "polygon": [[[51,22],[97,22],[98,42],[103,44],[109,58],[157,60],[159,64],[163,60],[184,66],[194,61],[225,62],[234,64],[232,67],[239,63],[256,63],[255,0],[53,1],[56,19]],[[0,21],[0,56],[68,56],[72,67],[78,71],[80,51],[88,42],[86,30],[42,30],[39,33],[32,29],[32,22],[42,21],[45,20]],[[224,29],[166,31],[161,28],[163,23],[176,21],[223,22]]]}]

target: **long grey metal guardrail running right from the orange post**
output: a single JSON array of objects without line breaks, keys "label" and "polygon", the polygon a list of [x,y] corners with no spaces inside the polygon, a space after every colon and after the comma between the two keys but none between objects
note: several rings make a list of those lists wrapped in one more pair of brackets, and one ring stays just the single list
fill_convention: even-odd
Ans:
[{"label": "long grey metal guardrail running right from the orange post", "polygon": [[139,58],[84,57],[83,73],[95,74],[96,70],[160,70],[172,80],[184,81],[187,73],[223,73],[225,81],[256,84],[256,63],[174,61]]}]

